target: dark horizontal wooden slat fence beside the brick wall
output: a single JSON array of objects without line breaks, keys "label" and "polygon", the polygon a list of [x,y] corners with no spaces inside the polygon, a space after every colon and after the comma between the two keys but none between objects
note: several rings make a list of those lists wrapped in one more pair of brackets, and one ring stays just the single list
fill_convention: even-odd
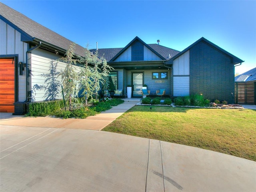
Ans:
[{"label": "dark horizontal wooden slat fence beside the brick wall", "polygon": [[256,81],[235,82],[235,103],[256,105]]}]

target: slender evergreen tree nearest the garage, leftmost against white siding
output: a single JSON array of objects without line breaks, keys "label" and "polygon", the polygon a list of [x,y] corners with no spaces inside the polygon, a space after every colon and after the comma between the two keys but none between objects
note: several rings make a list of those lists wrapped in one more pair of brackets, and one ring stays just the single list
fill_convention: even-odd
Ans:
[{"label": "slender evergreen tree nearest the garage, leftmost against white siding", "polygon": [[74,54],[75,45],[76,43],[70,44],[65,54],[66,57],[59,59],[60,61],[66,62],[66,67],[64,71],[61,72],[61,79],[63,84],[64,97],[69,104],[69,110],[71,110],[72,96],[74,98],[74,94],[76,92],[76,83],[78,81],[78,74],[74,67],[77,61],[77,59],[74,58],[76,56]]}]

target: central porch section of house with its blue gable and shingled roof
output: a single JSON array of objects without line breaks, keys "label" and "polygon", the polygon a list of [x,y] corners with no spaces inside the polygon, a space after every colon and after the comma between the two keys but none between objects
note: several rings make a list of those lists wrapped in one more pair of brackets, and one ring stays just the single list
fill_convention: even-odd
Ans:
[{"label": "central porch section of house with its blue gable and shingled roof", "polygon": [[171,95],[172,70],[165,62],[179,51],[159,44],[146,44],[135,37],[124,48],[98,49],[98,53],[104,54],[108,64],[115,69],[110,74],[111,91],[122,89],[127,94],[126,86],[131,85],[132,97],[141,97],[140,90],[146,84],[151,93],[166,89],[166,94]]}]

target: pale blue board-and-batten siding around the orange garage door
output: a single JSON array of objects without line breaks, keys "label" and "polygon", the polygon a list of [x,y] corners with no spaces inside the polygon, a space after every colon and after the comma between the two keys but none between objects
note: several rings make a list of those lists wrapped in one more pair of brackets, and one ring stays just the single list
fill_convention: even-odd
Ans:
[{"label": "pale blue board-and-batten siding around the orange garage door", "polygon": [[[10,25],[0,20],[0,55],[8,57],[9,55],[18,55],[18,62],[26,63],[26,51],[28,44],[20,40],[21,34]],[[20,69],[18,69],[20,70]],[[26,68],[23,75],[19,75],[18,79],[18,101],[26,100]]]}]

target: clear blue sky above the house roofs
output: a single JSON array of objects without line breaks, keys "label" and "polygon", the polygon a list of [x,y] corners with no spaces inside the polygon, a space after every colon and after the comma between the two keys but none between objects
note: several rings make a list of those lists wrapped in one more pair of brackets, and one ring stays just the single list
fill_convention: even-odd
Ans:
[{"label": "clear blue sky above the house roofs", "polygon": [[[256,1],[1,0],[69,40],[89,48],[122,48],[138,36],[179,51],[204,37],[256,67]],[[214,69],[214,66],[213,66]]]}]

